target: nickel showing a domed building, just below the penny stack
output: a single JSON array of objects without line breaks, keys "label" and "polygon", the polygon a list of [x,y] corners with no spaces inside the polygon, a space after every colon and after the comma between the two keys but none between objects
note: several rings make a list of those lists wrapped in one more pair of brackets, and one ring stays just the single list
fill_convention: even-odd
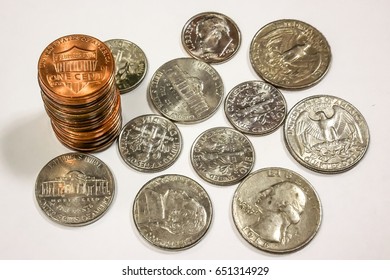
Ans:
[{"label": "nickel showing a domed building, just below the penny stack", "polygon": [[83,226],[101,218],[114,193],[114,177],[107,165],[81,153],[49,161],[35,184],[39,207],[52,221],[65,226]]}]

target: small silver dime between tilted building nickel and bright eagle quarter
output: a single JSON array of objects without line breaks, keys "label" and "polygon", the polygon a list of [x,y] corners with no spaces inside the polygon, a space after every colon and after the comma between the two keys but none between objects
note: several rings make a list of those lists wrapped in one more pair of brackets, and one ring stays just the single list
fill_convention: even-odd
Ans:
[{"label": "small silver dime between tilted building nickel and bright eagle quarter", "polygon": [[263,81],[248,81],[235,86],[228,93],[225,114],[242,133],[265,135],[283,123],[287,103],[274,86]]}]

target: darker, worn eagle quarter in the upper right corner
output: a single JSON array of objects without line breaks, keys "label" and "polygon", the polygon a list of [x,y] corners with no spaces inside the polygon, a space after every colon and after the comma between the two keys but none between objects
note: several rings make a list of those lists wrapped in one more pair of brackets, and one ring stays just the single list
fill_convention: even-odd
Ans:
[{"label": "darker, worn eagle quarter in the upper right corner", "polygon": [[293,19],[271,22],[252,39],[250,61],[267,82],[286,89],[302,89],[327,73],[331,50],[313,26]]}]

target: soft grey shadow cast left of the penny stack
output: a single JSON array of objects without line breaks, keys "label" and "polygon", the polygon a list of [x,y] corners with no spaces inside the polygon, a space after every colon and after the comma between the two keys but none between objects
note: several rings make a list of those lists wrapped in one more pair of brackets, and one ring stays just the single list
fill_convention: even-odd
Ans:
[{"label": "soft grey shadow cast left of the penny stack", "polygon": [[64,148],[61,148],[48,117],[43,113],[15,119],[0,136],[4,165],[9,173],[18,177],[36,175],[51,155],[63,152]]}]

